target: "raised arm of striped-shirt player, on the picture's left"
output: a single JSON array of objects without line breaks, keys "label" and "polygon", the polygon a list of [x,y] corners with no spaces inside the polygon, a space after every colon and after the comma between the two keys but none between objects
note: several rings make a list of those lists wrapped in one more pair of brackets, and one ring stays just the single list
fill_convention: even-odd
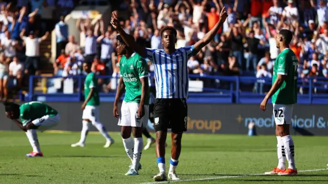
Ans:
[{"label": "raised arm of striped-shirt player, on the picture's left", "polygon": [[121,28],[117,18],[117,12],[112,13],[111,24],[119,33],[123,41],[128,45],[129,48],[132,48],[135,52],[137,52],[141,57],[146,57],[146,48],[137,44],[133,38],[128,37],[128,34]]}]

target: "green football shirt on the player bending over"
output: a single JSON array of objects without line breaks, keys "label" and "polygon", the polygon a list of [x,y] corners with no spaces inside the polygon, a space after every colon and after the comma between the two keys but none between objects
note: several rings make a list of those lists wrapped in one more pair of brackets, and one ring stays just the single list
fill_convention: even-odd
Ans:
[{"label": "green football shirt on the player bending over", "polygon": [[24,103],[20,105],[19,112],[19,118],[22,120],[23,126],[43,116],[49,115],[50,117],[54,117],[58,114],[57,110],[42,102]]}]

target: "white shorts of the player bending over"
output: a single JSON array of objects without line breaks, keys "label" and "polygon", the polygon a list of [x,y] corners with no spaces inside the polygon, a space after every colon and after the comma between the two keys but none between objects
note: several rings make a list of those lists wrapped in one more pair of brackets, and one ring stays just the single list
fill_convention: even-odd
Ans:
[{"label": "white shorts of the player bending over", "polygon": [[50,117],[49,115],[43,116],[41,118],[35,119],[32,123],[38,127],[38,130],[45,131],[49,128],[56,126],[59,123],[60,116],[57,114],[54,117]]}]

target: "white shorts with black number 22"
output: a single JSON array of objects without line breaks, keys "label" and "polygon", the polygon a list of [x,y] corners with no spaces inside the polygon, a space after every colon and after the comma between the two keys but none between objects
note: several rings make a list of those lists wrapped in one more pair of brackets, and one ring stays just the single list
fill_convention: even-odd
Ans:
[{"label": "white shorts with black number 22", "polygon": [[273,104],[276,125],[291,124],[294,104]]}]

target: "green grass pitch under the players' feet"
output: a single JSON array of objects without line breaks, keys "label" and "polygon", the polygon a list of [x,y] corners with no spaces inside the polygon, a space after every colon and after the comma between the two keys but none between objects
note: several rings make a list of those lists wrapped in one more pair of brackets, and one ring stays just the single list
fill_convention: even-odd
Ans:
[{"label": "green grass pitch under the players' feet", "polygon": [[[25,133],[0,132],[0,183],[153,182],[152,176],[158,172],[154,147],[142,153],[140,175],[125,176],[130,160],[119,134],[112,132],[111,135],[116,143],[105,149],[105,141],[98,133],[89,134],[85,148],[70,147],[78,141],[79,133],[38,133],[44,157],[26,158],[24,154],[30,152],[31,147]],[[326,168],[327,137],[294,136],[294,142],[299,171]],[[275,167],[276,144],[274,135],[183,135],[177,168],[180,178],[217,179],[177,183],[328,183],[328,170],[301,172],[298,176],[234,177],[260,174]],[[167,149],[167,163],[169,158],[170,149]]]}]

